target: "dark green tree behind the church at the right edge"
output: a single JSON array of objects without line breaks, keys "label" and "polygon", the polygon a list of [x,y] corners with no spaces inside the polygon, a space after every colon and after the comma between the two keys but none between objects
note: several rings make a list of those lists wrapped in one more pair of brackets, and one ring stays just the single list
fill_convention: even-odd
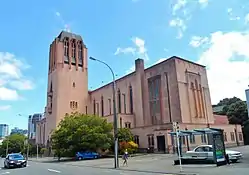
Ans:
[{"label": "dark green tree behind the church at the right edge", "polygon": [[243,125],[248,119],[247,104],[244,101],[237,101],[228,106],[227,116],[230,124]]}]

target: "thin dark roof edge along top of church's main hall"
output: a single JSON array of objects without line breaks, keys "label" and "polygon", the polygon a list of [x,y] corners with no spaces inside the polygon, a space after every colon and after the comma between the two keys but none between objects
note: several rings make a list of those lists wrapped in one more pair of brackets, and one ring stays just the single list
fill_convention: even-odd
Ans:
[{"label": "thin dark roof edge along top of church's main hall", "polygon": [[[140,59],[140,58],[138,58],[138,59]],[[154,68],[154,67],[156,67],[156,66],[158,66],[158,65],[160,65],[160,64],[162,64],[162,63],[166,63],[166,62],[172,61],[172,60],[174,60],[174,59],[179,59],[179,60],[181,60],[181,61],[185,61],[185,62],[194,64],[194,65],[197,65],[197,66],[206,68],[206,66],[204,66],[204,65],[201,65],[201,64],[198,64],[198,63],[195,63],[195,62],[192,62],[192,61],[183,59],[183,58],[181,58],[181,57],[178,57],[178,56],[171,56],[171,57],[169,57],[168,59],[165,59],[165,60],[162,61],[162,62],[159,62],[159,63],[157,63],[157,64],[154,64],[154,65],[152,65],[152,66],[150,66],[150,67],[144,69],[144,71],[146,72],[147,70],[149,70],[149,69],[151,69],[151,68]],[[127,75],[124,75],[123,77],[120,77],[120,78],[118,78],[118,79],[115,80],[115,81],[118,82],[118,81],[120,81],[120,80],[122,80],[122,79],[124,79],[124,78],[127,78],[127,77],[131,76],[132,74],[134,74],[135,72],[136,72],[136,71],[133,71],[133,72],[127,74]],[[94,90],[92,90],[92,91],[90,90],[89,92],[90,92],[90,94],[91,94],[92,92],[98,91],[98,90],[100,90],[100,89],[102,89],[102,88],[104,88],[104,87],[107,87],[107,86],[111,85],[111,84],[112,84],[112,81],[111,81],[110,83],[107,83],[107,84],[101,86],[101,87],[98,87],[97,89],[94,89]]]}]

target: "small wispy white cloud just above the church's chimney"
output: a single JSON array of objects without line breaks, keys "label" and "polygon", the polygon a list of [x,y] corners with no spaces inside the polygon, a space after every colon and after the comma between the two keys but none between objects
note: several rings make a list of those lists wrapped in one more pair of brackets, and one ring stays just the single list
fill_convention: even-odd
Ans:
[{"label": "small wispy white cloud just above the church's chimney", "polygon": [[145,41],[139,37],[133,37],[131,40],[134,44],[134,47],[126,47],[126,48],[118,47],[114,55],[119,55],[121,53],[132,54],[144,60],[149,60],[147,49],[145,47]]}]

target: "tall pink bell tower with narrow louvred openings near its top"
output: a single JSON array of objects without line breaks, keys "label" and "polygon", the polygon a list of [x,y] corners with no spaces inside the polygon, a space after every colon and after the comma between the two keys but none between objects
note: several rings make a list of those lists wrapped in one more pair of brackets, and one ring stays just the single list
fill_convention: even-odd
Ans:
[{"label": "tall pink bell tower with narrow louvred openings near its top", "polygon": [[87,48],[81,36],[62,31],[49,49],[45,107],[47,141],[66,113],[85,111],[88,99],[87,72]]}]

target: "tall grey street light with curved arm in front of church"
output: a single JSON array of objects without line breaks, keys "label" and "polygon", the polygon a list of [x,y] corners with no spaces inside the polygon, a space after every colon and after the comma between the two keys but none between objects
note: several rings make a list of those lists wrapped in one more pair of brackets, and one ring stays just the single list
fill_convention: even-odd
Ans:
[{"label": "tall grey street light with curved arm in front of church", "polygon": [[116,113],[116,93],[115,93],[115,88],[116,88],[116,81],[115,81],[115,74],[112,70],[112,68],[106,64],[105,62],[98,60],[93,57],[89,57],[90,60],[100,62],[104,65],[106,65],[111,73],[112,73],[112,92],[113,92],[113,128],[114,128],[114,168],[119,168],[119,163],[118,163],[118,126],[117,126],[117,113]]}]

